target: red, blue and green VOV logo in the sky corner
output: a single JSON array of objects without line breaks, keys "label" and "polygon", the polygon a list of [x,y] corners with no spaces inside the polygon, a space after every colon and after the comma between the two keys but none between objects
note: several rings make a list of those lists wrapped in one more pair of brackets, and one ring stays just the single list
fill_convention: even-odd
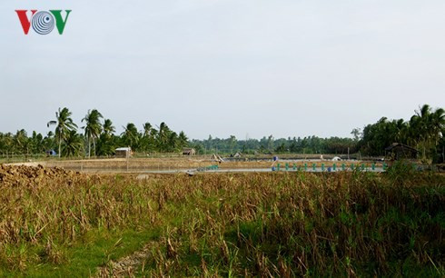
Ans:
[{"label": "red, blue and green VOV logo in the sky corner", "polygon": [[64,34],[64,26],[68,20],[71,10],[65,10],[66,15],[62,17],[62,10],[37,11],[31,10],[31,18],[28,18],[28,10],[15,10],[20,24],[24,29],[25,35],[28,35],[29,29],[33,26],[35,33],[39,35],[48,35],[57,27],[60,35]]}]

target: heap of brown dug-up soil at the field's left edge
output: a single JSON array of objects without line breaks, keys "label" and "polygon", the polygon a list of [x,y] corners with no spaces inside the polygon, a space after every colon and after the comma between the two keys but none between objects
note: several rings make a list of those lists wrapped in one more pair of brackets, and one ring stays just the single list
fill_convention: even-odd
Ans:
[{"label": "heap of brown dug-up soil at the field's left edge", "polygon": [[0,164],[0,187],[39,186],[40,184],[71,185],[82,178],[82,174],[63,168],[38,166],[12,166]]}]

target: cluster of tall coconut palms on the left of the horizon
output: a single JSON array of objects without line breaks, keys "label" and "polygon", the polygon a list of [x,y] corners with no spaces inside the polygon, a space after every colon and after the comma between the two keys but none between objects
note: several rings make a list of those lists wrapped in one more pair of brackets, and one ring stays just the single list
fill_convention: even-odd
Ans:
[{"label": "cluster of tall coconut palms on the left of the horizon", "polygon": [[54,120],[47,123],[47,127],[54,127],[54,132],[46,135],[33,132],[28,136],[24,129],[15,134],[0,133],[0,154],[45,154],[56,150],[59,157],[109,156],[120,146],[129,146],[139,153],[173,153],[180,152],[188,144],[183,132],[177,134],[165,123],[157,129],[145,123],[142,130],[128,123],[123,126],[122,134],[115,134],[113,122],[96,109],[85,114],[80,128],[72,115],[68,108],[59,108]]}]

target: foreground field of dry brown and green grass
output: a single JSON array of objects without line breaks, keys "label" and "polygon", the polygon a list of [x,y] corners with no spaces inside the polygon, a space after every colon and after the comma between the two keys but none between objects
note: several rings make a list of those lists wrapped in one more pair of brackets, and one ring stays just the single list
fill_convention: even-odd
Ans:
[{"label": "foreground field of dry brown and green grass", "polygon": [[0,276],[445,275],[443,175],[147,177],[0,166]]}]

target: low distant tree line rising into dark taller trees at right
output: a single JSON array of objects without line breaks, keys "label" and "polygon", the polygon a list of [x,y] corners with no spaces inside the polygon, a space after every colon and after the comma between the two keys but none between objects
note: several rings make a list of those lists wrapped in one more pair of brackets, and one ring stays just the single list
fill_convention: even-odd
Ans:
[{"label": "low distant tree line rising into dark taller trees at right", "polygon": [[420,151],[420,158],[442,162],[445,158],[445,111],[433,109],[429,104],[415,110],[410,120],[388,120],[382,117],[375,124],[354,128],[353,138],[288,137],[274,139],[272,135],[260,140],[237,140],[213,138],[193,140],[192,145],[200,153],[244,154],[354,154],[360,152],[369,156],[384,156],[385,148],[393,143],[401,143]]}]

